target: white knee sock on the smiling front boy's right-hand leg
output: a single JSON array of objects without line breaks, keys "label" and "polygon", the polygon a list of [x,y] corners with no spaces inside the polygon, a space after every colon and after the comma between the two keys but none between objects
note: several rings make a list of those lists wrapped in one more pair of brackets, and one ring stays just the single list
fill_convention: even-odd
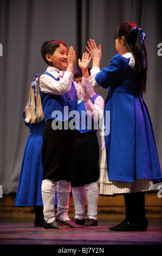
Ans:
[{"label": "white knee sock on the smiling front boy's right-hand leg", "polygon": [[66,180],[57,181],[57,218],[60,221],[70,220],[68,216],[71,182]]}]

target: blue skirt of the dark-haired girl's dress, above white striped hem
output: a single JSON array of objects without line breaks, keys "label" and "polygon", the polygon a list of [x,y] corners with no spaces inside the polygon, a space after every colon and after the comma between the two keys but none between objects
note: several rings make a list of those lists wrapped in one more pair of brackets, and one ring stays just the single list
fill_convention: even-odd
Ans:
[{"label": "blue skirt of the dark-haired girl's dress, above white striped hem", "polygon": [[161,179],[153,127],[144,100],[123,92],[109,93],[106,110],[110,111],[110,133],[105,136],[108,179]]}]

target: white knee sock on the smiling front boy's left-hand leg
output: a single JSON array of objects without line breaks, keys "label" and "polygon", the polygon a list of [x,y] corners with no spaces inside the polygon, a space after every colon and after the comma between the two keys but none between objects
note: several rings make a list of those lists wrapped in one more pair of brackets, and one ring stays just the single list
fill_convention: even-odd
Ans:
[{"label": "white knee sock on the smiling front boy's left-hand leg", "polygon": [[55,220],[55,191],[56,182],[52,180],[42,181],[42,200],[43,200],[43,214],[44,221],[47,223]]}]

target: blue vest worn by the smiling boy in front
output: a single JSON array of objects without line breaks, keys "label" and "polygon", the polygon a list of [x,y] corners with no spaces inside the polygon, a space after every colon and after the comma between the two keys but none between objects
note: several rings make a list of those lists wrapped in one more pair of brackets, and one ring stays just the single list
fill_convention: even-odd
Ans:
[{"label": "blue vest worn by the smiling boy in front", "polygon": [[[48,72],[45,72],[43,74],[49,75],[53,77],[56,81],[59,81],[59,79],[55,78]],[[65,121],[72,118],[69,115],[71,111],[77,111],[76,89],[73,81],[72,88],[68,93],[65,93],[63,95],[55,95],[43,93],[40,90],[40,96],[45,121],[55,118],[61,121]]]}]

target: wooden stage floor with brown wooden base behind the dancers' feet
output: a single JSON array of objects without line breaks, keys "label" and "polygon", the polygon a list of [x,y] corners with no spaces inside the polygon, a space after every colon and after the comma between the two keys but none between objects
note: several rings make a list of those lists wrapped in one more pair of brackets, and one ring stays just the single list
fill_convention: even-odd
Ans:
[{"label": "wooden stage floor with brown wooden base behind the dancers' feet", "polygon": [[[104,248],[108,245],[162,245],[162,198],[157,194],[147,194],[145,197],[146,213],[149,221],[147,231],[114,232],[108,227],[120,223],[125,217],[124,200],[99,197],[98,222],[96,227],[44,229],[34,227],[33,208],[18,208],[14,206],[15,195],[0,199],[0,245],[54,245],[54,251],[60,255],[59,249]],[[86,204],[86,203],[85,203]],[[74,217],[73,199],[70,197],[69,217]],[[77,247],[80,246],[80,247]],[[3,247],[2,247],[3,248]],[[160,247],[161,249],[161,247]],[[156,251],[156,250],[155,250]],[[66,251],[62,252],[65,253]],[[74,255],[74,252],[68,252]],[[82,252],[92,255],[96,251]],[[102,250],[100,254],[103,255]]]}]

